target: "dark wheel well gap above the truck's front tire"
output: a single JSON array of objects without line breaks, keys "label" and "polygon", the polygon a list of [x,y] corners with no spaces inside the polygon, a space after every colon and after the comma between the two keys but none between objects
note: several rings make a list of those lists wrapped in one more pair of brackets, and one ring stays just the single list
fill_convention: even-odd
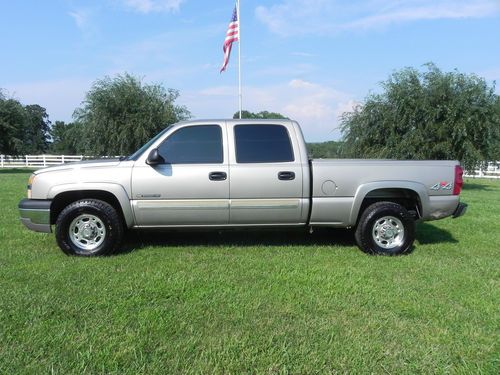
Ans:
[{"label": "dark wheel well gap above the truck's front tire", "polygon": [[109,203],[118,212],[124,222],[122,207],[114,194],[102,190],[76,190],[60,193],[54,197],[50,205],[50,223],[55,224],[57,217],[66,206],[81,199],[99,199]]}]

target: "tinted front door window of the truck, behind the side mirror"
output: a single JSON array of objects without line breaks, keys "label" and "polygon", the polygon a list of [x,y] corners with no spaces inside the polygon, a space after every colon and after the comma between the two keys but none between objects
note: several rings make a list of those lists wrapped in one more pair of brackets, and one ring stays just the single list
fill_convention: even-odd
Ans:
[{"label": "tinted front door window of the truck, behind the side mirror", "polygon": [[222,130],[218,125],[181,128],[163,141],[158,152],[169,164],[221,164]]}]

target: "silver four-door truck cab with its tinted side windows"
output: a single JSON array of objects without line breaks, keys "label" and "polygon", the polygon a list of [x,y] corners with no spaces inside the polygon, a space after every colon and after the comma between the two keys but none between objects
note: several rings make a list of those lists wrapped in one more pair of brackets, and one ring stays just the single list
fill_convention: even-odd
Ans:
[{"label": "silver four-door truck cab with its tinted side windows", "polygon": [[133,157],[138,227],[305,225],[309,166],[295,122],[197,121]]}]

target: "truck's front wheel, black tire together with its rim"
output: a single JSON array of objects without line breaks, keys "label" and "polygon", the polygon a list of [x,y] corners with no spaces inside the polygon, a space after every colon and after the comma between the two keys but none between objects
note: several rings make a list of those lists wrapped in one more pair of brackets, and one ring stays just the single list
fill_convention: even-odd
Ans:
[{"label": "truck's front wheel, black tire together with its rim", "polygon": [[57,244],[68,255],[109,255],[123,239],[120,215],[109,203],[83,199],[71,203],[56,221]]}]

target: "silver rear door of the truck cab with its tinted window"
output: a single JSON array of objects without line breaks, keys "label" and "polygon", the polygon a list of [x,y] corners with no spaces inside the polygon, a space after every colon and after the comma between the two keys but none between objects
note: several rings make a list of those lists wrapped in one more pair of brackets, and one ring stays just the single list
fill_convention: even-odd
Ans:
[{"label": "silver rear door of the truck cab with its tinted window", "polygon": [[299,224],[302,166],[290,124],[231,124],[230,224]]}]

